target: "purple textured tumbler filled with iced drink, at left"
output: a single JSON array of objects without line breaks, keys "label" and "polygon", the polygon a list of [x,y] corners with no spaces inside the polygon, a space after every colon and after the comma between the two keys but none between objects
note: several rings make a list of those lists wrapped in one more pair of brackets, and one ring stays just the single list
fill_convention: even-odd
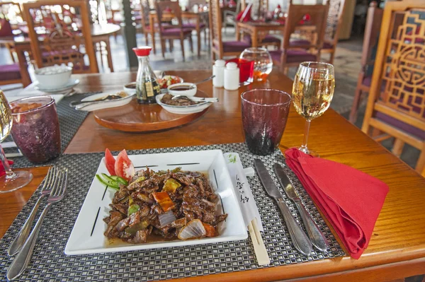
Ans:
[{"label": "purple textured tumbler filled with iced drink, at left", "polygon": [[34,96],[11,102],[12,136],[31,163],[45,163],[61,152],[55,100]]}]

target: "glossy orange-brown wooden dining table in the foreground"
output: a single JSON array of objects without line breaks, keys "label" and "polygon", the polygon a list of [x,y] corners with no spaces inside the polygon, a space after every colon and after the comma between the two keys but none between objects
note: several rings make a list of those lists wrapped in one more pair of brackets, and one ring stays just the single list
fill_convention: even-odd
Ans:
[{"label": "glossy orange-brown wooden dining table in the foreground", "polygon": [[[210,71],[167,71],[185,81],[200,81]],[[76,75],[84,91],[102,90],[109,93],[125,83],[135,81],[135,73]],[[198,146],[217,143],[244,142],[241,119],[241,98],[251,88],[277,88],[290,93],[293,81],[273,70],[265,83],[253,83],[239,90],[228,91],[212,87],[211,82],[198,86],[220,102],[190,124],[166,131],[143,134],[125,133],[101,127],[93,114],[86,117],[67,146],[65,153],[102,152],[125,149]],[[336,93],[338,95],[338,93]],[[288,123],[280,141],[280,151],[300,146],[305,119],[291,107]],[[357,127],[332,109],[311,124],[309,148],[321,158],[344,163],[385,182],[390,191],[375,224],[370,244],[360,259],[348,255],[285,266],[235,271],[208,276],[183,278],[181,281],[393,281],[425,273],[425,178],[387,149],[363,134]],[[21,211],[38,187],[47,168],[30,168],[34,179],[16,192],[0,194],[0,236]],[[344,187],[341,187],[344,189]],[[341,240],[329,225],[339,244]],[[72,270],[70,270],[72,271]]]}]

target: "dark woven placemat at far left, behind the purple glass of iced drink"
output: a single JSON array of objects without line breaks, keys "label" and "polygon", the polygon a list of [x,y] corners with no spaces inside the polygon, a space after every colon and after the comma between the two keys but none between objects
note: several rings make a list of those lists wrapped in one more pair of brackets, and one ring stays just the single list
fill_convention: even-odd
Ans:
[{"label": "dark woven placemat at far left, behind the purple glass of iced drink", "polygon": [[[94,95],[100,92],[89,92],[72,95],[69,97],[64,97],[56,105],[57,117],[59,118],[60,126],[60,141],[62,152],[65,151],[69,142],[71,142],[74,135],[77,133],[77,130],[86,119],[89,112],[77,111],[73,107],[69,107],[69,103],[72,101],[79,101],[88,97],[89,95]],[[8,136],[6,141],[13,141],[11,136]],[[4,149],[5,153],[16,153],[18,152],[17,148],[6,148]],[[33,163],[30,163],[25,157],[15,157],[11,158],[15,162],[13,168],[23,168],[35,166]],[[45,165],[45,164],[42,164]]]}]

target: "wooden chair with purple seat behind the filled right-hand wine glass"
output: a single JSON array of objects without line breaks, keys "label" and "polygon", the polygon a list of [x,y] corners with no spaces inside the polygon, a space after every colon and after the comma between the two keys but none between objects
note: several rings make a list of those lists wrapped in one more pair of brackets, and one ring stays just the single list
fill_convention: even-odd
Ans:
[{"label": "wooden chair with purple seat behind the filled right-hand wine glass", "polygon": [[[324,30],[326,28],[326,18],[329,9],[327,4],[317,5],[293,5],[288,8],[288,18],[286,18],[285,30],[283,35],[283,49],[270,51],[273,64],[280,67],[280,71],[286,73],[288,67],[298,66],[302,61],[319,61],[320,49],[322,49]],[[299,22],[305,16],[310,15],[310,24],[302,28],[314,30],[317,34],[316,40],[309,42],[310,45],[290,44],[290,36],[299,27]],[[314,53],[307,50],[312,50]]]}]

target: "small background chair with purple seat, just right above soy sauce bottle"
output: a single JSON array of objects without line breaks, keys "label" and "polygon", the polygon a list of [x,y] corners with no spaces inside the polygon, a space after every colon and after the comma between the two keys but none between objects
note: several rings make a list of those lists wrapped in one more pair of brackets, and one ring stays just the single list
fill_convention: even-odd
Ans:
[{"label": "small background chair with purple seat, just right above soy sauce bottle", "polygon": [[193,40],[192,40],[192,30],[193,28],[183,28],[181,22],[181,8],[179,2],[175,1],[157,1],[155,3],[155,8],[157,10],[157,23],[162,22],[162,11],[166,9],[171,9],[171,13],[174,15],[174,18],[177,19],[177,25],[174,25],[173,28],[163,28],[162,26],[158,28],[159,30],[159,39],[161,40],[161,49],[162,57],[165,57],[165,41],[170,41],[170,49],[173,48],[172,40],[180,40],[181,52],[183,53],[184,61],[184,40],[188,39],[189,44],[191,45],[191,52],[193,52]]}]

